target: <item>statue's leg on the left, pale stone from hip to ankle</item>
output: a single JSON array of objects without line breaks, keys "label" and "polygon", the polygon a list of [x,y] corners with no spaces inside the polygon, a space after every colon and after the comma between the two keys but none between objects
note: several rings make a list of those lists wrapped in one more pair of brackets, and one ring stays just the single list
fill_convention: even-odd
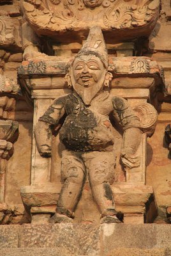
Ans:
[{"label": "statue's leg on the left, pale stone from hip to ankle", "polygon": [[74,218],[73,212],[78,204],[85,180],[84,163],[77,153],[64,150],[61,161],[61,178],[64,184],[59,195],[56,212],[58,216],[63,214]]}]

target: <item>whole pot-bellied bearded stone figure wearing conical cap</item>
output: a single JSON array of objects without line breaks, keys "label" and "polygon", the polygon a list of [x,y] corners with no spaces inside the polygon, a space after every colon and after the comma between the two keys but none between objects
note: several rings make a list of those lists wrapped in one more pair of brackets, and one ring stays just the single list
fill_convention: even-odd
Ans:
[{"label": "whole pot-bellied bearded stone figure wearing conical cap", "polygon": [[124,166],[137,166],[135,152],[140,145],[140,120],[122,97],[112,97],[108,55],[101,29],[90,29],[89,36],[70,65],[66,80],[73,93],[54,100],[36,125],[36,143],[41,156],[50,157],[52,127],[66,116],[59,131],[66,147],[62,152],[63,188],[57,202],[54,222],[71,221],[89,179],[93,197],[101,212],[101,223],[119,223],[110,184],[114,182],[114,136],[109,115],[124,129],[121,159]]}]

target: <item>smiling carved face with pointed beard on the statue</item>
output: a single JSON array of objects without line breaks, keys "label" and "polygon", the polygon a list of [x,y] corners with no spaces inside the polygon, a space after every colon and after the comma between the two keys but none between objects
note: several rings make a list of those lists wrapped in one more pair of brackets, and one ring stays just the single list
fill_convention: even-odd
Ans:
[{"label": "smiling carved face with pointed beard on the statue", "polygon": [[82,55],[75,59],[71,68],[71,83],[85,104],[89,105],[103,88],[106,74],[100,58],[94,55]]}]

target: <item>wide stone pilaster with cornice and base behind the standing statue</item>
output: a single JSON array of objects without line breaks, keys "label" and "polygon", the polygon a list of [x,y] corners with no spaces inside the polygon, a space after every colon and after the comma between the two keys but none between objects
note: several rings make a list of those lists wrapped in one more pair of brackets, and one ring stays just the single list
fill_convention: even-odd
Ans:
[{"label": "wide stone pilaster with cornice and base behind the standing statue", "polygon": [[[156,124],[156,111],[148,102],[155,104],[155,95],[162,91],[163,73],[156,61],[143,57],[108,58],[108,71],[113,75],[112,95],[128,100],[141,122],[148,127]],[[22,90],[29,93],[34,101],[34,124],[45,113],[53,100],[71,92],[67,88],[64,76],[68,59],[47,56],[23,61],[19,68]],[[28,90],[29,89],[29,90]],[[142,106],[144,106],[142,108]],[[145,115],[144,110],[145,109]],[[115,124],[114,124],[115,126]],[[145,129],[145,126],[144,126]],[[146,128],[147,129],[147,128]],[[156,217],[156,205],[152,186],[145,185],[147,136],[153,130],[144,133],[138,148],[140,166],[123,170],[120,163],[122,132],[119,127],[113,129],[115,136],[115,182],[112,192],[117,211],[124,214],[124,223],[151,223]],[[59,136],[53,136],[52,159],[41,157],[36,147],[33,129],[33,154],[31,168],[31,186],[21,188],[21,196],[27,211],[32,216],[32,223],[46,222],[54,214],[56,202],[61,191],[61,150]],[[99,223],[100,212],[91,195],[89,182],[85,182],[82,197],[75,211],[75,222]]]}]

